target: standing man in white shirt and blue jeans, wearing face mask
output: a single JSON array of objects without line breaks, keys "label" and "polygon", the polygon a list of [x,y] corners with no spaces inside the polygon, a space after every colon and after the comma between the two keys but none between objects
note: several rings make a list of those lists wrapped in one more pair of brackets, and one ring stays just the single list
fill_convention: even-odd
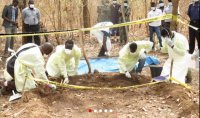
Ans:
[{"label": "standing man in white shirt and blue jeans, wearing face mask", "polygon": [[[162,11],[160,9],[157,9],[155,2],[151,2],[151,11],[148,13],[148,18],[152,17],[158,17],[162,15]],[[160,26],[161,21],[154,21],[149,23],[149,31],[150,31],[150,41],[153,41],[153,32],[156,32],[156,35],[159,39],[160,47],[162,47],[162,39],[161,39],[161,33],[160,33]],[[152,50],[154,50],[154,45],[152,47]]]}]

